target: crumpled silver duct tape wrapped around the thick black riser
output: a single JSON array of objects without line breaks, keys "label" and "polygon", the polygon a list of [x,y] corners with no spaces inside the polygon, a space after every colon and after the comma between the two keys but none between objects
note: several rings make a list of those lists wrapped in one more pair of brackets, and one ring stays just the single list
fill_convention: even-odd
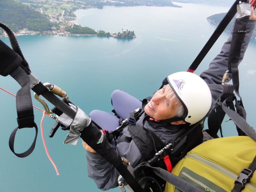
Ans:
[{"label": "crumpled silver duct tape wrapped around the thick black riser", "polygon": [[91,118],[89,118],[78,106],[70,103],[70,107],[76,111],[75,118],[71,119],[68,115],[62,113],[57,120],[69,128],[69,134],[64,140],[64,143],[77,145],[78,139],[81,135],[80,131],[91,123]]}]

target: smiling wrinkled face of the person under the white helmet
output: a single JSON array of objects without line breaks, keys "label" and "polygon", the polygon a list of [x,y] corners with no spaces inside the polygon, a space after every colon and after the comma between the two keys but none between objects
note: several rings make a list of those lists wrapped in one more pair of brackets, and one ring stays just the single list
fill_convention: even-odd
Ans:
[{"label": "smiling wrinkled face of the person under the white helmet", "polygon": [[169,93],[170,90],[166,91],[165,88],[159,89],[145,106],[146,114],[156,120],[171,118],[176,113],[176,109],[173,106],[173,102],[168,99],[167,95]]}]

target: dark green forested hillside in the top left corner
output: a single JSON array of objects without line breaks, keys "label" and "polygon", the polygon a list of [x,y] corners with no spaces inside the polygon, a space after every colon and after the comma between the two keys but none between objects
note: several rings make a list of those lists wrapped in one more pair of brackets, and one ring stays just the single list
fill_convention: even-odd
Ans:
[{"label": "dark green forested hillside in the top left corner", "polygon": [[38,11],[15,0],[0,0],[0,22],[14,32],[23,28],[31,31],[51,30],[54,25]]}]

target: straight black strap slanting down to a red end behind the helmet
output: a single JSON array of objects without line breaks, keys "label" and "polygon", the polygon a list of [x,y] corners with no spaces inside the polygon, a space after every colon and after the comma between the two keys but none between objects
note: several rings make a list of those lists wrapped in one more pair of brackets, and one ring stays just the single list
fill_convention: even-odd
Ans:
[{"label": "straight black strap slanting down to a red end behind the helmet", "polygon": [[[195,71],[237,12],[236,0],[188,69]],[[191,72],[192,72],[191,71]]]}]

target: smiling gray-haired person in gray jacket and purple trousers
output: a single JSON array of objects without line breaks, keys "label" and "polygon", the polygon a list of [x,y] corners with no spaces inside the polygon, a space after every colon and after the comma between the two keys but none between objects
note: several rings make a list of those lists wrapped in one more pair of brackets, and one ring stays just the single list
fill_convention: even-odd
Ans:
[{"label": "smiling gray-haired person in gray jacket and purple trousers", "polygon": [[[255,27],[255,19],[256,19],[256,16],[253,12],[253,9],[251,8],[251,17],[247,25],[247,34],[245,36],[242,49],[241,49],[240,62],[243,59],[245,50],[248,46],[253,29]],[[202,72],[200,75],[200,77],[204,79],[204,81],[208,84],[210,88],[210,91],[212,94],[212,103],[216,101],[216,99],[219,97],[219,95],[222,92],[221,80],[222,80],[223,74],[228,69],[227,59],[228,59],[231,39],[232,39],[232,34],[230,35],[227,42],[223,45],[220,54],[217,55],[216,58],[210,63],[208,70]],[[168,80],[169,79],[172,79],[172,78],[168,78]],[[182,78],[177,78],[177,80],[178,79],[182,79]],[[231,77],[229,77],[228,81],[230,80],[231,80]],[[179,83],[182,83],[182,82],[179,82]],[[172,83],[170,83],[170,85],[172,86]],[[179,134],[182,134],[183,132],[180,130],[184,130],[190,124],[195,123],[195,122],[193,123],[189,122],[188,114],[186,114],[187,111],[184,111],[184,102],[177,97],[178,96],[176,95],[177,91],[175,92],[176,94],[173,94],[174,92],[172,88],[167,84],[165,87],[159,89],[154,94],[150,102],[147,103],[147,105],[145,106],[144,108],[145,113],[143,114],[143,115],[150,115],[154,121],[160,120],[160,122],[161,120],[177,118],[175,121],[169,122],[170,124],[169,126],[161,127],[160,125],[161,128],[159,128],[159,126],[156,126],[156,127],[149,126],[150,123],[147,123],[147,121],[145,122],[144,127],[156,133],[156,135],[159,136],[159,138],[165,144],[177,138],[177,135],[175,135],[174,133],[175,131],[172,130],[173,125],[179,126],[179,129],[176,129],[179,135]],[[129,116],[129,112],[141,107],[141,101],[137,100],[136,98],[132,97],[131,95],[121,90],[117,90],[112,93],[111,102],[116,113],[122,119],[126,119],[127,116]],[[201,106],[199,105],[199,106],[193,106],[193,107],[194,109],[200,109]],[[185,108],[186,108],[186,105],[185,105]],[[143,115],[142,115],[142,118],[144,118]],[[184,118],[184,115],[185,115],[185,118]],[[182,116],[183,118],[180,118]],[[118,118],[116,118],[116,116],[110,113],[96,110],[91,112],[90,117],[103,129],[111,130],[113,127],[119,126]],[[204,115],[201,114],[200,118],[202,119],[203,117]],[[197,121],[199,121],[200,118]],[[136,124],[139,124],[139,123],[142,123],[142,122],[137,122]],[[195,131],[193,131],[194,136],[196,135],[195,133],[199,134],[198,130],[200,129],[195,129]],[[124,129],[122,132],[123,133],[121,134],[120,138],[116,139],[116,143],[117,143],[116,151],[121,156],[127,157],[132,166],[136,166],[138,163],[142,162],[144,159],[142,158],[141,153],[138,150],[137,146],[133,143],[133,140],[131,140],[129,131]],[[168,134],[174,137],[168,138],[168,141],[167,141],[165,136]],[[124,137],[124,138],[121,138],[121,137]],[[200,140],[200,138],[201,136],[197,135],[197,137],[195,137],[194,139]],[[200,142],[198,142],[197,144],[199,143]],[[118,145],[123,145],[123,146],[118,146]],[[118,186],[117,177],[119,176],[119,173],[113,168],[113,166],[111,166],[102,157],[100,157],[97,153],[95,153],[95,151],[92,148],[90,148],[90,146],[88,146],[85,142],[83,142],[83,146],[88,151],[87,152],[88,176],[94,179],[98,188],[100,188],[101,190],[107,190],[107,189]],[[189,148],[187,150],[189,150]]]}]

